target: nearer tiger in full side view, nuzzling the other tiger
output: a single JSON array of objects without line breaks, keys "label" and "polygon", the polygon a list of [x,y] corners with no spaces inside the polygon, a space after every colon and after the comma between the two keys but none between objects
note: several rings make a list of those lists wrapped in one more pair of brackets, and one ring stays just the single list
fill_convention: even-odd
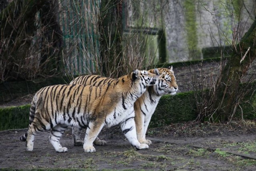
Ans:
[{"label": "nearer tiger in full side view, nuzzling the other tiger", "polygon": [[43,87],[32,99],[28,130],[20,141],[26,141],[26,150],[32,151],[35,135],[50,130],[49,140],[55,151],[66,152],[68,149],[60,145],[64,131],[68,126],[81,127],[86,128],[84,152],[94,152],[93,142],[101,129],[120,124],[134,147],[148,148],[136,137],[133,106],[147,86],[156,82],[156,74],[135,70],[100,86],[64,84]]}]

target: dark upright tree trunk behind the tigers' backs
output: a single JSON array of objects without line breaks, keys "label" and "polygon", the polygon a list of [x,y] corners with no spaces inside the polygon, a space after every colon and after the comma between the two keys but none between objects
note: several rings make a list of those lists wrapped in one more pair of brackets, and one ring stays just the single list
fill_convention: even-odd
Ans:
[{"label": "dark upright tree trunk behind the tigers' backs", "polygon": [[119,77],[122,68],[122,0],[102,0],[100,7],[100,44],[102,72]]}]

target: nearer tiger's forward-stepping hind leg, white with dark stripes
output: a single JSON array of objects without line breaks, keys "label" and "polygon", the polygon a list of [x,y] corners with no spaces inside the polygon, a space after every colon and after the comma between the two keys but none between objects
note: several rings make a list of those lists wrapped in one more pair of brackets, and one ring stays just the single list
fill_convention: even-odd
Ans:
[{"label": "nearer tiger's forward-stepping hind leg, white with dark stripes", "polygon": [[68,126],[66,126],[66,125],[56,125],[51,130],[51,134],[49,136],[49,141],[53,145],[56,152],[68,151],[68,149],[66,147],[62,147],[60,145],[60,138],[64,134],[67,127]]}]

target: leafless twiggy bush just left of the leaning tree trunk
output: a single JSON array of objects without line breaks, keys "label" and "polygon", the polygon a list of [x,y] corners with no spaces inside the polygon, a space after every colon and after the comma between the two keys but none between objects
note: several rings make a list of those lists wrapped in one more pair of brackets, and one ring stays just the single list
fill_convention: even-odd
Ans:
[{"label": "leafless twiggy bush just left of the leaning tree trunk", "polygon": [[[212,62],[214,63],[214,62]],[[196,100],[196,121],[204,121],[208,119],[210,122],[214,122],[214,101],[217,98],[216,89],[218,88],[217,78],[222,73],[222,66],[216,62],[214,66],[206,68],[205,63],[201,62],[197,65],[188,66],[190,68],[192,87],[194,91],[194,97]]]}]

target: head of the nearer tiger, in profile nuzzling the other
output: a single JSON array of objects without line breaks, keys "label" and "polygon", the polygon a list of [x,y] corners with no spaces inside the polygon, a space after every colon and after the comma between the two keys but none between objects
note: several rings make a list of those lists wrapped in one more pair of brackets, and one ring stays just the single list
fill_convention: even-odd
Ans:
[{"label": "head of the nearer tiger, in profile nuzzling the other", "polygon": [[[158,69],[154,69],[154,73],[159,74]],[[132,73],[132,80],[141,81],[141,84],[146,88],[146,86],[154,85],[156,84],[158,77],[156,74],[147,72],[146,70],[135,70]],[[139,79],[138,79],[139,78]]]}]

